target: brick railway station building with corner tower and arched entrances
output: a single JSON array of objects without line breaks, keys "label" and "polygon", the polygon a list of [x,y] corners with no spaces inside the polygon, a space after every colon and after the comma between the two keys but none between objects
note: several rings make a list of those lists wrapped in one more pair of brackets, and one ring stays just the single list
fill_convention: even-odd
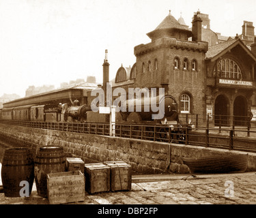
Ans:
[{"label": "brick railway station building with corner tower and arched entrances", "polygon": [[[253,35],[252,23],[244,25]],[[136,63],[118,69],[113,87],[165,88],[179,114],[209,114],[215,125],[244,125],[247,110],[256,110],[255,43],[249,49],[240,37],[221,37],[199,11],[191,29],[170,12],[147,36],[152,42],[134,47]]]}]

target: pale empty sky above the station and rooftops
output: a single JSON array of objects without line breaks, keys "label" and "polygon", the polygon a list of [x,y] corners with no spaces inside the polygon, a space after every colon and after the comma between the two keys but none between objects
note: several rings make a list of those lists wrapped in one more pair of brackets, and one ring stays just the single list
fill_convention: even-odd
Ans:
[{"label": "pale empty sky above the station and rooftops", "polygon": [[243,20],[256,27],[255,8],[255,0],[0,0],[0,97],[87,76],[102,82],[106,49],[115,78],[169,10],[176,20],[182,12],[189,27],[200,10],[212,31],[234,36]]}]

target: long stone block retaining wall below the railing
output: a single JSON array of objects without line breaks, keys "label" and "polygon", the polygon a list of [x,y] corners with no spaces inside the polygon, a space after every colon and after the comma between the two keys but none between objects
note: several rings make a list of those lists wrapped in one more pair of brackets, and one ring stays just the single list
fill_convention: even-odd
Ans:
[{"label": "long stone block retaining wall below the railing", "polygon": [[[85,163],[126,161],[132,170],[143,174],[189,173],[182,157],[203,157],[222,153],[244,153],[184,144],[168,144],[130,138],[78,134],[68,131],[34,129],[0,124],[0,138],[14,146],[31,147],[35,155],[40,146],[63,146],[69,157]],[[256,154],[249,153],[248,171],[256,170]]]}]

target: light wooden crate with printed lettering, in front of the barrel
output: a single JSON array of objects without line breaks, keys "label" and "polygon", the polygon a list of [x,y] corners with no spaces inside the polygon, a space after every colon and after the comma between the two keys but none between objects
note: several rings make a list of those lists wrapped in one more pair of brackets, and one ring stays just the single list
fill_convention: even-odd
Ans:
[{"label": "light wooden crate with printed lettering, in front of the barrel", "polygon": [[80,170],[47,174],[47,197],[50,204],[85,200],[85,176]]}]

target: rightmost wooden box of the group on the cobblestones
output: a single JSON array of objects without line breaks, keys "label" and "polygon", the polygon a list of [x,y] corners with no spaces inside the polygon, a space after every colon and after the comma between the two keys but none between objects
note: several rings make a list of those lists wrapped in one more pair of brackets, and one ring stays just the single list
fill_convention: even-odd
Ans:
[{"label": "rightmost wooden box of the group on the cobblestones", "polygon": [[111,191],[130,191],[132,188],[132,167],[124,161],[106,161],[104,164],[111,168]]}]

